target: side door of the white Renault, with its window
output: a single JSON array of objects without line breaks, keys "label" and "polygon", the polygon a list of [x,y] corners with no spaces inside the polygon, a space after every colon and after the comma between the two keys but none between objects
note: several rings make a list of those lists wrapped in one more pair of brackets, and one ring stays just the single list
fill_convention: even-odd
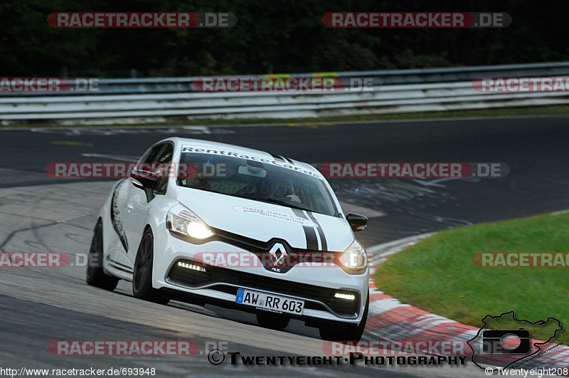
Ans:
[{"label": "side door of the white Renault, with its window", "polygon": [[[171,163],[174,154],[174,145],[171,142],[164,142],[152,147],[147,154],[139,161],[137,167],[141,164],[155,163]],[[156,181],[155,194],[164,194],[166,177]],[[167,181],[166,181],[167,182]],[[144,227],[148,224],[147,216],[150,206],[152,206],[153,198],[147,196],[144,189],[134,186],[129,180],[129,199],[127,200],[127,216],[124,222],[124,229],[127,236],[129,250],[127,256],[132,263],[137,256],[138,247],[142,239]]]}]

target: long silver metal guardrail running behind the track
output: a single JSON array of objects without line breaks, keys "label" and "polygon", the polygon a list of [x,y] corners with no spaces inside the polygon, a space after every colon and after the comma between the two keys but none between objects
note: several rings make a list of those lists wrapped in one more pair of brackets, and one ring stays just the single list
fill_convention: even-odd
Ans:
[{"label": "long silver metal guardrail running behind the track", "polygon": [[[480,93],[472,86],[472,80],[478,77],[569,75],[569,62],[334,75],[344,79],[373,78],[374,86],[370,90],[333,93],[197,93],[191,85],[195,78],[110,79],[107,88],[97,94],[0,95],[0,121],[4,125],[43,121],[68,125],[124,123],[125,119],[157,122],[167,117],[294,118],[569,103],[566,92]],[[457,78],[461,80],[448,81]],[[390,82],[404,84],[386,84]]]}]

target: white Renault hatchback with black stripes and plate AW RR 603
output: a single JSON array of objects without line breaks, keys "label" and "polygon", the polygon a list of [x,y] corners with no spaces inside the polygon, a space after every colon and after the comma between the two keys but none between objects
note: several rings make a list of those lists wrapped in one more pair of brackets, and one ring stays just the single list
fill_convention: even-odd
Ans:
[{"label": "white Renault hatchback with black stripes and plate AW RR 603", "polygon": [[87,283],[134,297],[291,318],[324,340],[359,340],[369,266],[347,213],[309,164],[244,147],[172,137],[142,156],[100,211]]}]

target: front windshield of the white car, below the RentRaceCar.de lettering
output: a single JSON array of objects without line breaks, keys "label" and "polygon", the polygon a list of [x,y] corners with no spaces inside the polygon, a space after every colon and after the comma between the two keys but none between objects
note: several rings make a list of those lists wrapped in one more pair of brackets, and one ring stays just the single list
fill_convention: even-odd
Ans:
[{"label": "front windshield of the white car, below the RentRaceCar.de lettering", "polygon": [[[181,187],[338,216],[322,179],[273,164],[270,159],[262,159],[265,163],[260,160],[183,152],[180,162],[191,168],[188,177],[180,175],[177,182]],[[285,162],[282,165],[294,167]]]}]

